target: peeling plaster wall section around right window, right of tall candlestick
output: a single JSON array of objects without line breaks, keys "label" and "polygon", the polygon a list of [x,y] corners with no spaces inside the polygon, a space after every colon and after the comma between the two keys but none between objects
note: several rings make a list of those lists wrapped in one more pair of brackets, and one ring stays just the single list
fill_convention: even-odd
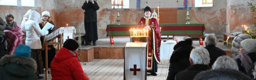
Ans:
[{"label": "peeling plaster wall section around right window, right of tall candlestick", "polygon": [[213,0],[212,7],[197,7],[191,10],[194,22],[204,24],[206,33],[217,35],[226,32],[226,2]]}]

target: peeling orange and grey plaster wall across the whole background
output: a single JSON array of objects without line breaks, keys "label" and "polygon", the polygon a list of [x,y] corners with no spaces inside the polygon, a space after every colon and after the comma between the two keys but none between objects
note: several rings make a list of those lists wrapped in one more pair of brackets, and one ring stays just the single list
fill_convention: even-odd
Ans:
[{"label": "peeling orange and grey plaster wall across the whole background", "polygon": [[[0,17],[5,14],[14,15],[14,20],[20,26],[23,15],[29,9],[35,9],[40,14],[43,11],[49,11],[53,18],[56,28],[66,26],[75,26],[76,30],[84,31],[84,10],[82,5],[85,0],[35,0],[35,7],[27,6],[3,6],[0,5]],[[218,37],[223,32],[240,31],[240,26],[254,26],[256,20],[253,16],[256,12],[251,12],[247,2],[256,5],[255,0],[214,0],[213,7],[192,8],[190,13],[190,23],[205,24],[206,33],[215,33]],[[106,37],[107,24],[117,24],[117,9],[111,9],[111,0],[98,0],[100,9],[98,15],[98,36]],[[193,2],[194,3],[194,2]],[[160,23],[184,24],[186,22],[186,10],[179,10],[183,6],[182,0],[140,0],[140,9],[136,8],[136,0],[130,0],[131,9],[120,9],[121,24],[137,24],[139,18],[143,17],[143,8],[150,6],[157,10],[160,6]],[[167,11],[166,11],[167,10]],[[176,14],[175,14],[176,13]],[[165,17],[164,17],[165,16]],[[170,16],[166,18],[166,16]],[[227,25],[226,25],[227,24]]]}]

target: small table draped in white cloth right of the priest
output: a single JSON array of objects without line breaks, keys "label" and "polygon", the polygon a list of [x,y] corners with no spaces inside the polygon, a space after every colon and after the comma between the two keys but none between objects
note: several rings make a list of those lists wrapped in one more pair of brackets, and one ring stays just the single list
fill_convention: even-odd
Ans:
[{"label": "small table draped in white cloth right of the priest", "polygon": [[174,40],[167,40],[164,42],[163,40],[161,41],[161,46],[160,46],[160,60],[169,60],[170,57],[172,56],[172,52],[174,45],[176,45],[176,41]]}]

